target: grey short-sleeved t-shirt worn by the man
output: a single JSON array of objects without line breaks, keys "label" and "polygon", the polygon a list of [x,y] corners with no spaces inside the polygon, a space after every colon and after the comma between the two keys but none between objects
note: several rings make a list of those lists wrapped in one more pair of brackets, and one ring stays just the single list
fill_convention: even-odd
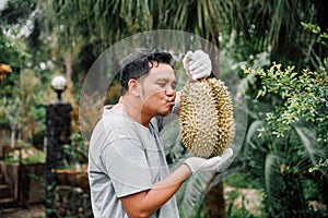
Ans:
[{"label": "grey short-sleeved t-shirt worn by the man", "polygon": [[[128,217],[119,201],[130,194],[150,190],[169,174],[159,136],[159,119],[149,128],[120,112],[104,109],[93,131],[89,152],[91,203],[95,218]],[[175,197],[151,217],[176,218]]]}]

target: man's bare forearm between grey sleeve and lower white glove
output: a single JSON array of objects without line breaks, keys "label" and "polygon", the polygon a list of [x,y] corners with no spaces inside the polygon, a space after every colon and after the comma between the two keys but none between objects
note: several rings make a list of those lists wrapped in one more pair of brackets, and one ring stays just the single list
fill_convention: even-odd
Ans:
[{"label": "man's bare forearm between grey sleeve and lower white glove", "polygon": [[121,197],[121,204],[129,217],[149,217],[165,204],[191,174],[186,165],[181,165],[167,178],[153,184],[152,189]]}]

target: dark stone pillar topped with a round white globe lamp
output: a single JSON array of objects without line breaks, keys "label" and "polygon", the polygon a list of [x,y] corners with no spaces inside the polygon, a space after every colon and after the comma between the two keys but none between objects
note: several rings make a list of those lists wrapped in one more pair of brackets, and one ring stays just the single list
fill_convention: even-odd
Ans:
[{"label": "dark stone pillar topped with a round white globe lamp", "polygon": [[51,80],[51,88],[57,93],[57,101],[47,106],[46,129],[47,129],[47,189],[46,189],[46,214],[47,217],[56,217],[54,201],[58,178],[56,169],[63,159],[63,148],[70,144],[71,136],[71,110],[70,104],[61,100],[61,94],[67,88],[67,80],[63,76],[55,76]]}]

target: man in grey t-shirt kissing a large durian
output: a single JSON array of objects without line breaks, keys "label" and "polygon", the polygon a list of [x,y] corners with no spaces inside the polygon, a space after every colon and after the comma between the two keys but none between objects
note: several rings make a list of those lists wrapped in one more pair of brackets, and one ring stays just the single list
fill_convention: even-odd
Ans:
[{"label": "man in grey t-shirt kissing a large durian", "polygon": [[[178,112],[172,56],[140,49],[120,70],[121,97],[105,107],[90,144],[89,179],[94,216],[178,217],[174,194],[188,177],[218,169],[232,156],[191,157],[169,173],[159,132],[163,120]],[[209,56],[201,50],[184,58],[189,82],[211,73]],[[165,122],[165,120],[164,120]]]}]

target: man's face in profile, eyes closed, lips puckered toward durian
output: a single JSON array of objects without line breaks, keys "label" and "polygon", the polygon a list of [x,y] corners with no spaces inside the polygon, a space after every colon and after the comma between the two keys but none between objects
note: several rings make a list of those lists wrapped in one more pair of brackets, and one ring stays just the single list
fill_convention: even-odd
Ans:
[{"label": "man's face in profile, eyes closed, lips puckered toward durian", "polygon": [[166,116],[176,97],[176,76],[169,64],[154,63],[150,73],[141,78],[142,113]]}]

